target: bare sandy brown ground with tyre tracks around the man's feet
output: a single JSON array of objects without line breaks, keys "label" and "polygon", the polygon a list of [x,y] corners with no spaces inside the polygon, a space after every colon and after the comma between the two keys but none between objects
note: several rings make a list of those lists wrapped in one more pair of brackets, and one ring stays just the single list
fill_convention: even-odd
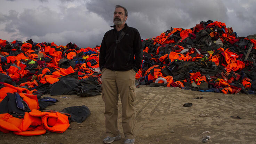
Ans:
[{"label": "bare sandy brown ground with tyre tracks around the man's feet", "polygon": [[[213,144],[256,143],[256,95],[203,93],[174,87],[141,86],[136,89],[135,144],[198,144],[202,133]],[[46,95],[45,95],[46,96]],[[49,96],[49,95],[47,95]],[[101,144],[105,137],[104,103],[102,96],[50,96],[56,105],[47,110],[61,111],[69,106],[86,105],[91,115],[82,123],[71,122],[64,133],[47,132],[40,136],[18,136],[0,132],[0,143],[23,144]],[[68,98],[62,98],[68,97]],[[194,99],[203,97],[202,99]],[[184,103],[193,103],[183,107]],[[119,100],[119,110],[121,102]],[[239,116],[235,119],[231,116]],[[119,111],[118,127],[124,136]]]}]

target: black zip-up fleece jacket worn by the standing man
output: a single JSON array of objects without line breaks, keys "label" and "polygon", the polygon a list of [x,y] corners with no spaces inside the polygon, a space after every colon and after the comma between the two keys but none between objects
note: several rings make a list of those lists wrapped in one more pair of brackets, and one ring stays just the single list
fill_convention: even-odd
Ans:
[{"label": "black zip-up fleece jacket worn by the standing man", "polygon": [[117,37],[114,29],[105,33],[99,52],[99,68],[104,67],[112,71],[128,71],[134,69],[136,72],[141,68],[142,44],[141,36],[137,29],[127,26],[121,30]]}]

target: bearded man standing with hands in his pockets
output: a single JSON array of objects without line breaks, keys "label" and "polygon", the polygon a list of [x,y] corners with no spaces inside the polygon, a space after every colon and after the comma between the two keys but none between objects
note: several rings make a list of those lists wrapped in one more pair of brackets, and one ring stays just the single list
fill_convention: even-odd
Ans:
[{"label": "bearded man standing with hands in his pockets", "polygon": [[106,138],[103,143],[121,139],[117,127],[118,94],[122,103],[124,144],[135,142],[135,74],[142,63],[142,45],[139,32],[127,26],[128,12],[115,6],[114,29],[107,31],[101,43],[99,67],[102,72],[102,98],[105,102]]}]

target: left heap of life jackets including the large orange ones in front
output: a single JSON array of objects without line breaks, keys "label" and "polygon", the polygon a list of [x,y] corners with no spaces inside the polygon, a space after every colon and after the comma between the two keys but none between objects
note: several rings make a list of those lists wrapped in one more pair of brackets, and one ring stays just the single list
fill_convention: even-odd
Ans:
[{"label": "left heap of life jackets including the large orange ones in front", "polygon": [[39,111],[44,109],[40,97],[47,93],[100,95],[99,48],[0,39],[0,131],[63,133],[69,127],[67,115]]}]

